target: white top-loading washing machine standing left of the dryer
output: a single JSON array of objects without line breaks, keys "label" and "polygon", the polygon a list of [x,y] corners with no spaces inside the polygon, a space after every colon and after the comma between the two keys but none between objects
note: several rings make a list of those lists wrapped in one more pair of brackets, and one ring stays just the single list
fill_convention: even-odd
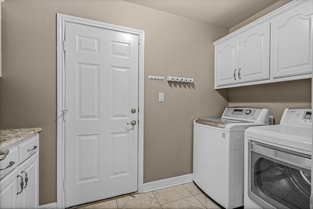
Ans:
[{"label": "white top-loading washing machine standing left of the dryer", "polygon": [[244,205],[244,131],[268,124],[267,109],[246,107],[194,120],[193,181],[224,208]]}]

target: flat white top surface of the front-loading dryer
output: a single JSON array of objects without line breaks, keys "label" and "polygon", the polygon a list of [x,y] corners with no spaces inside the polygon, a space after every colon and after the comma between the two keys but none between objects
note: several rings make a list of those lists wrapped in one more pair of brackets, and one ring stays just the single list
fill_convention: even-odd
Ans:
[{"label": "flat white top surface of the front-loading dryer", "polygon": [[245,137],[264,142],[291,147],[304,151],[312,151],[312,128],[290,125],[270,125],[250,127],[245,131]]}]

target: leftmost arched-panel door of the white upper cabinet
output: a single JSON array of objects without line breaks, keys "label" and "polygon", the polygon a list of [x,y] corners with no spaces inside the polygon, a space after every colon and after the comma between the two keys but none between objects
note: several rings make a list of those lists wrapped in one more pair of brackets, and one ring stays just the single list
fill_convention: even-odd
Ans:
[{"label": "leftmost arched-panel door of the white upper cabinet", "polygon": [[215,79],[217,86],[238,83],[238,38],[215,47]]}]

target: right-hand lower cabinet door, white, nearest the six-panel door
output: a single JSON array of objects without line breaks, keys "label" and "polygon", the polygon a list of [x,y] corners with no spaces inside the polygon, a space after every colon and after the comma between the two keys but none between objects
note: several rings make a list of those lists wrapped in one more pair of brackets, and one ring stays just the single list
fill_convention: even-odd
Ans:
[{"label": "right-hand lower cabinet door, white, nearest the six-panel door", "polygon": [[[20,175],[24,180],[24,188],[21,196],[21,207],[26,209],[38,208],[38,152],[27,159],[20,166]],[[26,185],[26,176],[28,178]],[[21,189],[20,185],[19,189]]]}]

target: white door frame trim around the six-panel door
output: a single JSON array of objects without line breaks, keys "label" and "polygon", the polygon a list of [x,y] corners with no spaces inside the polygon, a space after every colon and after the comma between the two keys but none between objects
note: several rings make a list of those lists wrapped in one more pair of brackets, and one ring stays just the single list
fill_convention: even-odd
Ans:
[{"label": "white door frame trim around the six-panel door", "polygon": [[[65,208],[65,23],[79,23],[139,35],[138,77],[138,192],[143,192],[144,31],[119,25],[57,14],[57,208]],[[139,112],[140,110],[140,112]]]}]

